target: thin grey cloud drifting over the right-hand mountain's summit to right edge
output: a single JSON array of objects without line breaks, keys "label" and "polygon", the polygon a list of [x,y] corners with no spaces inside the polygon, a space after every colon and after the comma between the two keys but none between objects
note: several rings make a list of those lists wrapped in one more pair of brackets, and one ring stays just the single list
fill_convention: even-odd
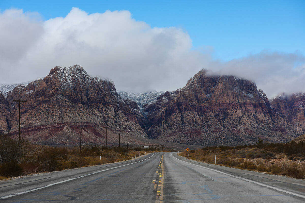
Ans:
[{"label": "thin grey cloud drifting over the right-hand mountain's summit to right edge", "polygon": [[255,55],[213,64],[221,74],[232,74],[256,82],[267,96],[305,91],[305,57],[262,51]]}]

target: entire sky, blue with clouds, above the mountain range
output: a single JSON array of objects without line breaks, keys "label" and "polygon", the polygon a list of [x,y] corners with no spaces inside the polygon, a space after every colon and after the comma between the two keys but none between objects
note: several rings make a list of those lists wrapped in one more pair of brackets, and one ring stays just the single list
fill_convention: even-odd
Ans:
[{"label": "entire sky, blue with clouds, above the mountain range", "polygon": [[[0,83],[79,64],[116,88],[183,87],[200,69],[305,91],[304,1],[0,1]],[[5,31],[3,31],[5,30]]]}]

